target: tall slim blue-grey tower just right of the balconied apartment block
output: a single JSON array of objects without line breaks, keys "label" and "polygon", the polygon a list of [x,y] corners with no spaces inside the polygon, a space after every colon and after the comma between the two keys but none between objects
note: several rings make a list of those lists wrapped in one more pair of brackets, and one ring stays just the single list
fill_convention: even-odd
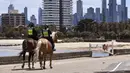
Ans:
[{"label": "tall slim blue-grey tower just right of the balconied apartment block", "polygon": [[83,3],[81,0],[77,1],[77,19],[78,21],[83,19]]}]

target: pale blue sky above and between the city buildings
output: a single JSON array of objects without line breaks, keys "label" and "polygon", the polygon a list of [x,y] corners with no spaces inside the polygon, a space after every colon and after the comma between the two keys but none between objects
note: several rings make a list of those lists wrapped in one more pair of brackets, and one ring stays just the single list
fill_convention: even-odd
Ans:
[{"label": "pale blue sky above and between the city buildings", "polygon": [[[76,12],[76,1],[73,0],[73,13]],[[101,0],[82,0],[83,1],[83,9],[84,13],[87,12],[87,8],[89,7],[100,7],[101,8]],[[130,18],[130,0],[126,0],[128,7],[128,17]],[[42,0],[0,0],[0,14],[8,12],[8,6],[12,3],[15,9],[19,10],[20,13],[24,11],[24,7],[28,7],[28,18],[30,20],[30,16],[34,14],[36,18],[38,18],[38,8],[42,7]],[[117,0],[117,3],[120,4],[120,0]]]}]

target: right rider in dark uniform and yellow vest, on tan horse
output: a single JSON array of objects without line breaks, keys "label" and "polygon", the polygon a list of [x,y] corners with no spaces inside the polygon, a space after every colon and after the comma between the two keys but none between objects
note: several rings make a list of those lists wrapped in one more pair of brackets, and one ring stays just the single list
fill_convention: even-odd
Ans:
[{"label": "right rider in dark uniform and yellow vest, on tan horse", "polygon": [[54,48],[54,41],[52,39],[52,32],[50,31],[48,26],[45,26],[45,29],[42,30],[42,38],[46,38],[48,41],[50,41],[50,43],[52,44],[52,49],[53,51],[56,51],[56,49]]}]

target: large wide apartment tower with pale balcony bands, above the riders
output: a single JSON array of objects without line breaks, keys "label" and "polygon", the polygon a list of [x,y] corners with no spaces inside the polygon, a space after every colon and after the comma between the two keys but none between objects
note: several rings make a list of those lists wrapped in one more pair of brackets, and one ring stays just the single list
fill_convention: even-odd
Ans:
[{"label": "large wide apartment tower with pale balcony bands, above the riders", "polygon": [[43,0],[43,24],[72,25],[72,0]]}]

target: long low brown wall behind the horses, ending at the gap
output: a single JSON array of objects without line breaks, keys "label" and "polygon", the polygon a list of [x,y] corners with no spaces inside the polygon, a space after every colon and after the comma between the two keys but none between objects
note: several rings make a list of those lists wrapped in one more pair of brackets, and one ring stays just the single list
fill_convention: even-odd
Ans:
[{"label": "long low brown wall behind the horses, ending at the gap", "polygon": [[[79,58],[79,57],[91,57],[91,51],[84,51],[84,52],[71,52],[71,53],[57,53],[53,55],[53,60],[61,60],[61,59],[69,59],[69,58]],[[48,58],[47,58],[48,60]],[[27,61],[27,56],[26,56]],[[0,57],[0,65],[4,64],[16,64],[22,63],[22,58],[18,56],[12,57]]]}]

